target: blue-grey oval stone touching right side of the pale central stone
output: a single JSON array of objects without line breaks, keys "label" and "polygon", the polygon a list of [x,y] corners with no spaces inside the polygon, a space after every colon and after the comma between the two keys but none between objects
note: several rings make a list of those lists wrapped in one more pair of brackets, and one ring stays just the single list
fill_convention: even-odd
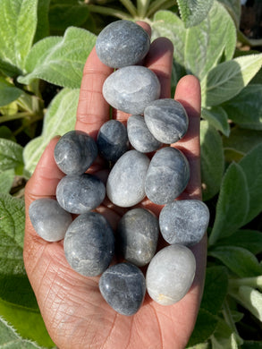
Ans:
[{"label": "blue-grey oval stone touching right side of the pale central stone", "polygon": [[190,180],[190,165],[179,149],[166,147],[152,157],[146,177],[148,199],[165,205],[177,198]]}]

